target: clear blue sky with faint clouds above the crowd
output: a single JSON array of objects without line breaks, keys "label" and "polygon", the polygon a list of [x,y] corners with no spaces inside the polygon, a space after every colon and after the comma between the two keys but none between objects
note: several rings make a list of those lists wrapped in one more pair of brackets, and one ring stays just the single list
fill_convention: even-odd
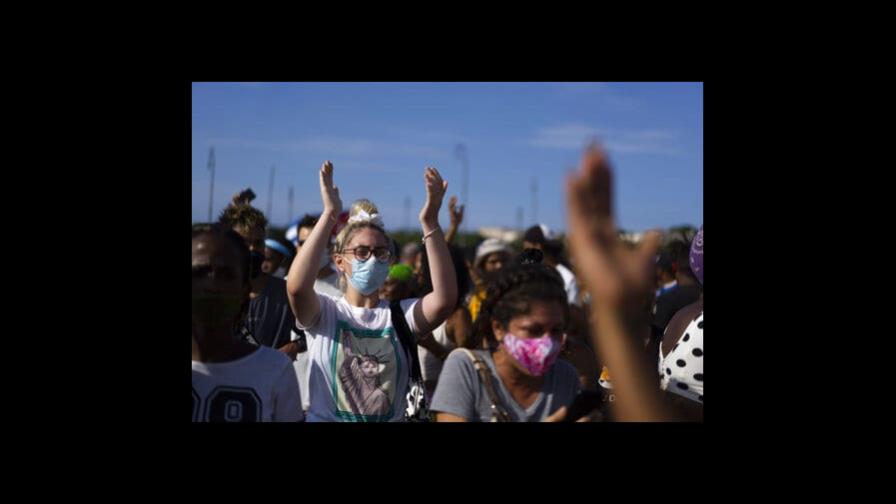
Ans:
[{"label": "clear blue sky with faint clouds above the crowd", "polygon": [[564,175],[597,136],[615,167],[619,227],[703,223],[702,83],[194,83],[192,95],[194,221],[208,217],[211,146],[215,217],[247,186],[266,211],[271,166],[273,224],[287,222],[290,185],[295,217],[319,212],[317,171],[330,159],[346,208],[371,199],[397,229],[406,197],[417,225],[425,166],[461,197],[463,143],[469,230],[515,227],[520,207],[524,227],[565,230]]}]

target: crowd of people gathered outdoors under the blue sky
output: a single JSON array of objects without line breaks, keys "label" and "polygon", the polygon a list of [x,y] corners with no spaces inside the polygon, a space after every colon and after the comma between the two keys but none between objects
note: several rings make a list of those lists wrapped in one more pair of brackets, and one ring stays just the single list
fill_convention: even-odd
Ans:
[{"label": "crowd of people gathered outdoors under the blue sky", "polygon": [[464,219],[424,169],[420,242],[376,204],[281,236],[234,196],[192,231],[194,422],[702,421],[703,229],[620,238],[612,168],[589,146],[566,182],[568,233],[455,244]]}]

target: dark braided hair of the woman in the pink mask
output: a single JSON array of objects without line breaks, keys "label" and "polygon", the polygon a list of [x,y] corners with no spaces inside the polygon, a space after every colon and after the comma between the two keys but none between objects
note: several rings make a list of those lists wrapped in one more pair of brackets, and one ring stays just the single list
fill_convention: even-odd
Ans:
[{"label": "dark braided hair of the woman in the pink mask", "polygon": [[569,321],[569,303],[563,279],[554,268],[541,263],[514,264],[502,268],[489,284],[479,316],[473,324],[472,346],[495,348],[498,341],[492,331],[492,320],[505,328],[510,320],[526,315],[532,303],[558,303],[564,320]]}]

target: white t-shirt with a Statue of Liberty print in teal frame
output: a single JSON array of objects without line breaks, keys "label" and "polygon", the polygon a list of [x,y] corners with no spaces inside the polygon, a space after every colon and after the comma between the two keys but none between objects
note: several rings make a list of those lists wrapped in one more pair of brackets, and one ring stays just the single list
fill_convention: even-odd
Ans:
[{"label": "white t-shirt with a Statue of Liberty print in teal frame", "polygon": [[[389,302],[356,307],[318,294],[320,315],[308,335],[309,422],[404,421],[408,359],[392,328]],[[411,332],[418,298],[401,301]]]}]

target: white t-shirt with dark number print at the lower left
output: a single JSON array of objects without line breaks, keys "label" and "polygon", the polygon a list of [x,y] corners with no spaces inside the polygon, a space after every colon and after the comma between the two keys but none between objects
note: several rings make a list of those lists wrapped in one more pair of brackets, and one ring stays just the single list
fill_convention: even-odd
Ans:
[{"label": "white t-shirt with dark number print at the lower left", "polygon": [[230,362],[193,361],[194,422],[300,422],[301,403],[292,362],[273,348]]}]

